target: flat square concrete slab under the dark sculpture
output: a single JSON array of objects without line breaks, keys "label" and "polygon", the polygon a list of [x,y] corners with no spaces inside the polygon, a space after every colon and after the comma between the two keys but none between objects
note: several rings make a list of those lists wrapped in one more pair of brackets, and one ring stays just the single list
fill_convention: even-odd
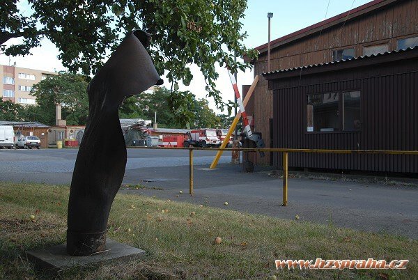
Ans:
[{"label": "flat square concrete slab under the dark sculpture", "polygon": [[111,239],[106,241],[106,250],[91,256],[70,256],[65,251],[65,244],[54,247],[27,251],[29,260],[35,263],[38,270],[59,272],[70,267],[97,265],[108,261],[130,260],[144,256],[145,251],[119,243]]}]

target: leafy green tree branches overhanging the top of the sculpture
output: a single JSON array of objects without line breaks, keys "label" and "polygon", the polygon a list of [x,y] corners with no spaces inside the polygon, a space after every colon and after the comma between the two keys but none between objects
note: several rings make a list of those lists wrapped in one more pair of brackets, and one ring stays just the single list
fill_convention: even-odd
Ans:
[{"label": "leafy green tree branches overhanging the top of the sculpture", "polygon": [[[71,72],[94,74],[109,50],[123,34],[144,29],[153,36],[150,56],[160,75],[165,74],[179,107],[188,95],[176,93],[178,81],[188,85],[193,78],[189,65],[196,63],[206,80],[206,91],[219,109],[224,103],[215,88],[215,63],[235,71],[250,65],[234,62],[236,56],[256,57],[242,45],[247,0],[28,0],[32,12],[19,10],[20,1],[3,0],[0,5],[0,45],[6,55],[28,54],[48,38],[59,49],[59,59]],[[3,45],[10,38],[23,38],[20,45]],[[181,103],[181,104],[179,104]],[[233,106],[229,104],[229,109]],[[176,107],[177,109],[178,107]],[[181,111],[182,109],[180,109]]]}]

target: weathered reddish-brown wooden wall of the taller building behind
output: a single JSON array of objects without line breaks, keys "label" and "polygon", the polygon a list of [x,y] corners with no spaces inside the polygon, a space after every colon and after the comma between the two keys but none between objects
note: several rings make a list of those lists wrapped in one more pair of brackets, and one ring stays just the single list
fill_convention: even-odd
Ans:
[{"label": "weathered reddish-brown wooden wall of the taller building behind", "polygon": [[[418,34],[418,1],[398,0],[347,22],[318,33],[311,34],[281,45],[271,50],[271,69],[288,69],[301,65],[313,65],[332,61],[332,50],[355,47],[355,56],[364,54],[363,48],[368,45],[387,43],[389,50],[396,49],[399,38],[417,36]],[[272,22],[274,28],[274,21]],[[258,56],[254,62],[254,74],[267,72],[267,54]],[[272,118],[272,96],[267,82],[261,78],[254,92],[255,130],[263,133],[268,144],[269,120]],[[258,157],[258,164],[268,164],[268,155]]]}]

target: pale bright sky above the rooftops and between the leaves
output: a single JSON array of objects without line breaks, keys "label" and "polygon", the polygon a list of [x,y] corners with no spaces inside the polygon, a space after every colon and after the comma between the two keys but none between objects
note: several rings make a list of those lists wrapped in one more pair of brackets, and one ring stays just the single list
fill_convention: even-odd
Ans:
[{"label": "pale bright sky above the rooftops and between the leaves", "polygon": [[[271,20],[271,40],[285,36],[288,33],[298,31],[304,27],[316,24],[322,20],[344,13],[351,8],[356,8],[369,2],[370,0],[248,0],[245,18],[242,20],[242,31],[247,32],[248,37],[244,40],[247,47],[258,47],[268,42],[268,17],[267,13],[273,13]],[[30,13],[27,11],[27,13]],[[9,42],[17,42],[19,39],[12,39]],[[31,50],[32,55],[8,57],[0,54],[0,64],[13,65],[23,68],[32,68],[47,71],[65,70],[59,59],[56,58],[58,49],[49,42],[42,40],[41,47]],[[10,59],[10,60],[9,60]],[[225,68],[216,65],[215,69],[219,72],[219,79],[216,81],[217,89],[221,91],[224,102],[233,100],[234,93],[229,80],[228,72]],[[180,90],[190,91],[197,98],[206,98],[205,81],[199,68],[191,67],[194,76],[189,86],[180,84]],[[238,72],[238,88],[242,84],[251,84],[254,73],[251,70]],[[168,88],[169,84],[166,84]],[[208,98],[210,107],[217,113],[212,98]],[[224,111],[225,113],[225,111]]]}]

